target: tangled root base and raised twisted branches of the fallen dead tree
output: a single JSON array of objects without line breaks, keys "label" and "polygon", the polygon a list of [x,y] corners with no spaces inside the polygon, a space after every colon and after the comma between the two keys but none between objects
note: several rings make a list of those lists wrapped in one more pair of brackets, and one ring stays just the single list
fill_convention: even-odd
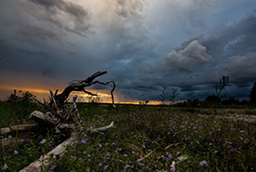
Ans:
[{"label": "tangled root base and raised twisted branches of the fallen dead tree", "polygon": [[82,91],[84,93],[87,93],[89,95],[97,96],[96,94],[93,94],[91,92],[88,92],[85,87],[92,86],[95,84],[100,85],[108,85],[110,83],[113,83],[113,88],[111,90],[111,96],[112,96],[112,103],[115,107],[115,101],[114,101],[114,95],[113,92],[115,90],[115,82],[114,81],[108,81],[106,83],[100,82],[100,81],[94,81],[94,79],[98,76],[101,76],[103,74],[107,73],[104,72],[97,72],[90,75],[85,80],[74,80],[69,83],[68,86],[64,88],[61,94],[58,94],[58,90],[55,91],[55,94],[51,90],[49,102],[47,103],[46,100],[44,103],[39,102],[41,105],[45,107],[47,112],[32,112],[31,118],[37,123],[37,124],[44,124],[47,128],[56,128],[59,131],[63,131],[63,133],[72,133],[74,131],[74,127],[77,125],[81,125],[81,118],[79,115],[79,112],[76,109],[75,100],[77,97],[74,97],[74,107],[73,109],[67,108],[67,103],[65,103],[69,97],[69,95],[73,91]]}]

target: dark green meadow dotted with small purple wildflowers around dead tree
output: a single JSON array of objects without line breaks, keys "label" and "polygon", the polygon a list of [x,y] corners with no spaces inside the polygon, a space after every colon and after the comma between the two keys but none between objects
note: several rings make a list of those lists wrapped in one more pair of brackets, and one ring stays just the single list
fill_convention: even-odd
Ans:
[{"label": "dark green meadow dotted with small purple wildflowers around dead tree", "polygon": [[[228,112],[97,103],[78,103],[77,108],[84,128],[112,121],[115,127],[96,134],[78,130],[65,156],[51,157],[43,171],[256,171],[255,133],[249,132],[255,125],[238,125],[225,117]],[[34,103],[1,102],[0,126],[31,124],[34,110],[43,111]],[[2,171],[19,171],[66,139],[56,131],[3,138],[13,142],[0,148]],[[21,144],[15,139],[22,139]]]}]

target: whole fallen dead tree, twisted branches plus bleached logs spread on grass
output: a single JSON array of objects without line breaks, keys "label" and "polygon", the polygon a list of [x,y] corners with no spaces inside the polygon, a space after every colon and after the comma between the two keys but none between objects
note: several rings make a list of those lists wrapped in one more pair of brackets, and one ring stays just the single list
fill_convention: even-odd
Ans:
[{"label": "whole fallen dead tree, twisted branches plus bleached logs spread on grass", "polygon": [[[100,81],[94,81],[94,79],[98,76],[101,76],[102,74],[105,74],[107,72],[97,72],[90,75],[85,80],[74,80],[69,83],[68,86],[66,86],[61,94],[58,94],[58,90],[55,91],[55,94],[51,90],[49,102],[47,102],[44,99],[44,103],[40,102],[39,100],[35,99],[38,103],[43,105],[46,109],[46,112],[39,112],[34,111],[31,113],[30,117],[36,122],[36,124],[33,125],[22,125],[22,126],[10,126],[8,128],[1,128],[0,129],[0,135],[6,135],[7,133],[11,132],[17,132],[17,131],[24,131],[24,130],[32,130],[34,128],[42,128],[46,127],[47,130],[49,129],[56,129],[57,131],[61,132],[61,134],[69,137],[65,141],[63,141],[59,146],[54,148],[51,152],[48,152],[45,155],[42,155],[37,161],[32,163],[31,165],[28,165],[27,167],[23,168],[20,171],[40,171],[40,167],[42,165],[48,165],[47,158],[49,155],[53,154],[53,157],[60,157],[65,152],[66,145],[69,145],[72,143],[75,139],[75,130],[76,129],[84,129],[81,125],[82,119],[80,117],[80,114],[76,108],[75,100],[77,99],[77,96],[74,96],[73,98],[73,104],[66,103],[69,95],[73,91],[82,91],[84,93],[87,93],[89,95],[97,96],[91,92],[88,92],[85,87],[92,86],[95,84],[100,85],[108,85],[110,83],[113,83],[113,88],[111,90],[111,96],[112,96],[112,103],[115,107],[115,101],[114,101],[114,95],[113,92],[115,90],[115,82],[114,81],[108,81],[106,83],[100,82]],[[71,108],[72,107],[72,108]],[[109,128],[114,127],[114,122],[112,122],[109,126],[103,126],[100,128],[89,128],[87,131],[89,133],[98,133],[101,131],[105,131]],[[19,141],[19,140],[18,140]],[[0,139],[0,143],[2,143],[2,146],[6,146],[11,141],[8,139]],[[42,162],[45,162],[42,164]]]}]

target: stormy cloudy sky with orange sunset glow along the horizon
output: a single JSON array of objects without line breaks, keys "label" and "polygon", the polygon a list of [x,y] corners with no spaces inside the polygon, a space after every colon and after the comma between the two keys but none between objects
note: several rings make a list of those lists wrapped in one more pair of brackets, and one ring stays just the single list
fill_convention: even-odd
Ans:
[{"label": "stormy cloudy sky with orange sunset glow along the horizon", "polygon": [[[47,98],[98,71],[117,102],[159,101],[163,86],[206,99],[222,75],[226,98],[249,99],[256,82],[255,0],[0,3],[0,99],[13,89]],[[87,90],[110,100],[111,88]]]}]

